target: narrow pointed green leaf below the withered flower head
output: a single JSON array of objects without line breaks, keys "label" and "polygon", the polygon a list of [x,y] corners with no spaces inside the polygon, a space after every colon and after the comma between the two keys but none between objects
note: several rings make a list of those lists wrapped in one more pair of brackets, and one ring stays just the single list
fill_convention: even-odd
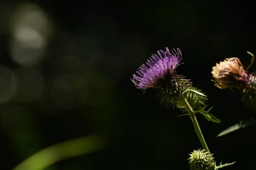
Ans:
[{"label": "narrow pointed green leaf below the withered flower head", "polygon": [[230,126],[227,129],[221,131],[221,133],[219,133],[216,137],[227,135],[228,133],[234,132],[236,130],[239,130],[239,129],[242,129],[244,127],[251,126],[251,125],[256,125],[256,119],[249,119],[244,122],[241,121],[240,123]]}]

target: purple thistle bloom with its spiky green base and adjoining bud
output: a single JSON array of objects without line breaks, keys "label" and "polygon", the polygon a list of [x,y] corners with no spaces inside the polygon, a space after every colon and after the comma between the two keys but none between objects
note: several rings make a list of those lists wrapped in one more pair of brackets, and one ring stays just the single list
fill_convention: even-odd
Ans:
[{"label": "purple thistle bloom with its spiky green base and adjoining bud", "polygon": [[[172,51],[171,54],[166,47],[166,51],[160,50],[157,55],[153,54],[146,65],[143,64],[139,68],[137,75],[133,74],[131,81],[140,89],[157,88],[157,96],[163,105],[166,107],[177,106],[184,110],[184,105],[180,105],[182,94],[192,88],[192,83],[175,71],[181,59],[182,54],[179,48],[175,52]],[[192,89],[198,91],[196,88]],[[205,107],[205,97],[195,92],[187,92],[186,99],[195,110]]]}]

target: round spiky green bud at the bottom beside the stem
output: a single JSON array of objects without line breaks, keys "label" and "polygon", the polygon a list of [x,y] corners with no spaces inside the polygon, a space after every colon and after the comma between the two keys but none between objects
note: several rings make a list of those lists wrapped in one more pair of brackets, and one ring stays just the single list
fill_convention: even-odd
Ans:
[{"label": "round spiky green bud at the bottom beside the stem", "polygon": [[189,167],[190,170],[215,170],[215,162],[212,153],[206,150],[194,150],[189,154]]}]

